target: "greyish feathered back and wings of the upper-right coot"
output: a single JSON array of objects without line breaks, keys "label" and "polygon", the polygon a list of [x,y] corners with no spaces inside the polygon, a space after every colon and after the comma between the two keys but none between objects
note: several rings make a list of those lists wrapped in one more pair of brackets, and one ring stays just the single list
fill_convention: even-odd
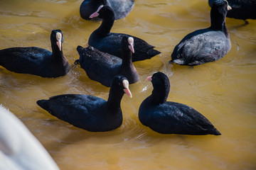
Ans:
[{"label": "greyish feathered back and wings of the upper-right coot", "polygon": [[230,50],[230,40],[222,31],[196,30],[176,45],[171,55],[176,64],[198,65],[219,60]]}]

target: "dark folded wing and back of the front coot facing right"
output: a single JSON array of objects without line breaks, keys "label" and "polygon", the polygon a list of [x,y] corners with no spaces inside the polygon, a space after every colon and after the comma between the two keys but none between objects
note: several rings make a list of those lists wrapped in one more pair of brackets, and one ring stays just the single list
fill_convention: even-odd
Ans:
[{"label": "dark folded wing and back of the front coot facing right", "polygon": [[85,130],[97,131],[106,101],[102,98],[80,94],[53,96],[49,100],[37,101],[41,108],[60,120]]}]

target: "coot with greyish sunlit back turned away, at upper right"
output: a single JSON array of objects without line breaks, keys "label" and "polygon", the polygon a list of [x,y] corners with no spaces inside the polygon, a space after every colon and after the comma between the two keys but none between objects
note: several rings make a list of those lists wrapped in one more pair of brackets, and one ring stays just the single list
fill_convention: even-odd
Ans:
[{"label": "coot with greyish sunlit back turned away, at upper right", "polygon": [[227,1],[215,1],[210,10],[210,28],[196,30],[174,47],[171,62],[181,65],[199,65],[224,57],[230,50],[230,36],[225,16],[230,6]]}]

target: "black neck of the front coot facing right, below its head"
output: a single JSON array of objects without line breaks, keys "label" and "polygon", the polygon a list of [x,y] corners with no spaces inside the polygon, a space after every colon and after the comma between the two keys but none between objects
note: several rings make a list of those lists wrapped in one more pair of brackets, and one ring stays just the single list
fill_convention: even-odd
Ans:
[{"label": "black neck of the front coot facing right, below its head", "polygon": [[109,95],[109,98],[107,99],[107,109],[109,110],[119,109],[122,96],[124,96],[124,92],[114,91],[114,89],[111,87],[110,95]]}]

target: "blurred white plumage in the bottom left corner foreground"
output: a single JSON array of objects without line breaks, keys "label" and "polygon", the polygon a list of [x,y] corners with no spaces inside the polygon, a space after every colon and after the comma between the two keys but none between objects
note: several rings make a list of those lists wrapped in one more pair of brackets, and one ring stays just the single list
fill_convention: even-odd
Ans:
[{"label": "blurred white plumage in the bottom left corner foreground", "polygon": [[25,125],[0,105],[0,169],[59,169]]}]

